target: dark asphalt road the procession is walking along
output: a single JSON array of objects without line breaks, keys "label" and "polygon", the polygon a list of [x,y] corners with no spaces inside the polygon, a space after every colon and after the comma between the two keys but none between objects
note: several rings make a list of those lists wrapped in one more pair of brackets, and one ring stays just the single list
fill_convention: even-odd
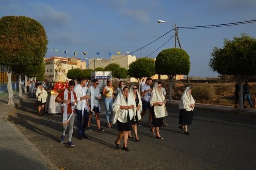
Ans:
[{"label": "dark asphalt road the procession is walking along", "polygon": [[[140,142],[128,141],[131,152],[116,150],[117,126],[105,132],[87,132],[89,140],[76,139],[76,126],[68,148],[59,143],[61,115],[37,116],[34,101],[27,99],[9,121],[59,168],[66,170],[177,169],[253,170],[256,169],[256,118],[196,111],[189,126],[191,135],[178,129],[179,110],[168,106],[169,124],[160,129],[164,140],[156,139],[146,127],[147,115],[138,127]],[[101,104],[102,112],[104,106]],[[106,127],[105,115],[101,124]],[[76,124],[76,121],[75,121]],[[91,128],[96,130],[93,119]]]}]

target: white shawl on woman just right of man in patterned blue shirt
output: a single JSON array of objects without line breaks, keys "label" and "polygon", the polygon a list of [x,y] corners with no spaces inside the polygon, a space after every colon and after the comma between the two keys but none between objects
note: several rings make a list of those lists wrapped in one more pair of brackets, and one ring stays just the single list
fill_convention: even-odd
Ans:
[{"label": "white shawl on woman just right of man in patterned blue shirt", "polygon": [[[153,92],[151,94],[151,101],[150,106],[152,107],[155,102],[163,102],[165,100],[165,97],[162,93],[162,91],[158,88],[157,82],[154,84]],[[165,104],[162,106],[154,106],[155,111],[155,118],[161,118],[168,116],[168,113],[166,111]]]}]

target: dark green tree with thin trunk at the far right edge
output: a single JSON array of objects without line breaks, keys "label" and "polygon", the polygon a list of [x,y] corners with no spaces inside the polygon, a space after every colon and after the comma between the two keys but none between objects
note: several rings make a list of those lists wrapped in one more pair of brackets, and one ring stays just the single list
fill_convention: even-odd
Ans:
[{"label": "dark green tree with thin trunk at the far right edge", "polygon": [[214,47],[209,67],[221,75],[231,75],[239,83],[239,112],[243,110],[243,82],[256,75],[256,39],[247,34],[224,39],[222,48]]}]

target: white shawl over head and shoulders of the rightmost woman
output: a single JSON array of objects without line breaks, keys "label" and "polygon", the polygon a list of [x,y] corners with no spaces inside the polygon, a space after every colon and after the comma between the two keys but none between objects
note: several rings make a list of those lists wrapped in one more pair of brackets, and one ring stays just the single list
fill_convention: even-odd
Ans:
[{"label": "white shawl over head and shoulders of the rightmost woman", "polygon": [[186,109],[186,111],[194,110],[194,108],[190,108],[190,104],[195,104],[195,100],[193,99],[192,95],[189,94],[190,87],[186,87],[185,91],[183,92],[179,109]]}]

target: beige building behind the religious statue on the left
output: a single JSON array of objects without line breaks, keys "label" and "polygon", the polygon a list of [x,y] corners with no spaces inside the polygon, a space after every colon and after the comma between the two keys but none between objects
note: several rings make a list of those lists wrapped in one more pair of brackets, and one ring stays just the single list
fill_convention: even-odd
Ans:
[{"label": "beige building behind the religious statue on the left", "polygon": [[45,72],[44,77],[49,81],[63,82],[70,80],[66,77],[68,70],[72,68],[86,68],[86,62],[79,58],[72,57],[50,57],[44,58]]}]

